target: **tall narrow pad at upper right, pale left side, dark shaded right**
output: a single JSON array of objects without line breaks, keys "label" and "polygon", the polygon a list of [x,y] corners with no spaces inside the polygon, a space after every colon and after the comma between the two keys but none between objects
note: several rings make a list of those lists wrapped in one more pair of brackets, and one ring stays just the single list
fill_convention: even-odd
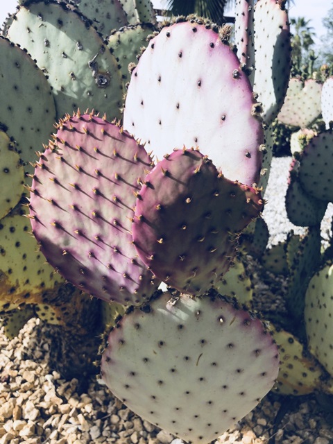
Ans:
[{"label": "tall narrow pad at upper right, pale left side, dark shaded right", "polygon": [[262,103],[262,117],[267,124],[273,122],[282,107],[291,67],[289,19],[283,3],[259,0],[255,5],[253,91]]}]

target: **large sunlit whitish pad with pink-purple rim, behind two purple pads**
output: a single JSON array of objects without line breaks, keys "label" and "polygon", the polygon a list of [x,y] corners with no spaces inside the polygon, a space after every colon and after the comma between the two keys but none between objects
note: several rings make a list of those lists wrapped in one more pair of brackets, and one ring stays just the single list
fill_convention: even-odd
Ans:
[{"label": "large sunlit whitish pad with pink-purple rim, behind two purple pads", "polygon": [[198,146],[226,178],[251,186],[261,166],[259,110],[232,49],[192,20],[150,41],[131,76],[124,128],[159,159]]}]

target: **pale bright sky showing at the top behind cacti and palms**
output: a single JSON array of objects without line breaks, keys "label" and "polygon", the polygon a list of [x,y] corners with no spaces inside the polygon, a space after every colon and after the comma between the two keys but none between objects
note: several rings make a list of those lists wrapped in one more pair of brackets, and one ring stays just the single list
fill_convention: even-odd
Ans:
[{"label": "pale bright sky showing at the top behind cacti and palms", "polygon": [[[94,0],[91,0],[94,1]],[[165,0],[153,0],[156,8]],[[325,34],[325,28],[321,20],[327,14],[327,11],[333,7],[333,0],[294,0],[295,5],[291,6],[289,17],[305,17],[311,19],[311,26],[316,31],[317,38]],[[8,12],[15,11],[17,0],[0,0],[0,23],[6,18]]]}]

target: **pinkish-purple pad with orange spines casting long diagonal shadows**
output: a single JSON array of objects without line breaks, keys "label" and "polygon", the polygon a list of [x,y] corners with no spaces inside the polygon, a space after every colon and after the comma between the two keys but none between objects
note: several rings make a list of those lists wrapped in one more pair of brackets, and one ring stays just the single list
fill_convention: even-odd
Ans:
[{"label": "pinkish-purple pad with orange spines casting long diagonal shadows", "polygon": [[152,284],[130,232],[140,178],[149,169],[143,146],[92,114],[60,121],[36,166],[30,210],[42,253],[103,300],[137,304],[160,284]]}]

